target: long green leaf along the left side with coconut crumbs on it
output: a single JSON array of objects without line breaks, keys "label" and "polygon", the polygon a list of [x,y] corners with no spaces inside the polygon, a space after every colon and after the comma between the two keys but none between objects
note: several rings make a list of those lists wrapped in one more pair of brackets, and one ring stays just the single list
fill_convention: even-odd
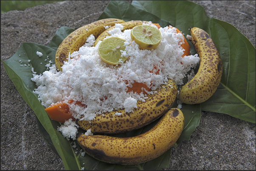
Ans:
[{"label": "long green leaf along the left side with coconut crumbs on it", "polygon": [[[32,92],[35,85],[30,80],[32,77],[31,66],[37,66],[35,70],[40,73],[45,70],[45,65],[40,64],[42,61],[36,52],[39,51],[45,54],[45,59],[47,56],[55,54],[52,48],[44,45],[39,45],[36,43],[23,43],[19,50],[10,59],[3,62],[3,66],[6,73],[10,77],[11,81],[14,83],[20,95],[23,97],[25,102],[29,107],[35,112],[37,119],[40,121],[39,130],[46,140],[48,145],[53,148],[53,151],[57,151],[58,155],[61,157],[65,168],[76,170],[79,169],[79,161],[74,155],[74,151],[70,148],[70,143],[62,136],[60,132],[56,130],[56,126],[59,123],[52,121],[41,105],[40,101],[37,99],[37,95]],[[53,57],[54,58],[54,57]],[[28,60],[31,60],[28,62]],[[39,63],[37,63],[37,62]],[[22,63],[20,63],[22,62]],[[25,64],[27,66],[25,66]],[[29,65],[28,65],[29,64]],[[42,131],[43,130],[43,131]],[[50,137],[50,138],[49,138]],[[77,163],[73,165],[73,163]]]}]

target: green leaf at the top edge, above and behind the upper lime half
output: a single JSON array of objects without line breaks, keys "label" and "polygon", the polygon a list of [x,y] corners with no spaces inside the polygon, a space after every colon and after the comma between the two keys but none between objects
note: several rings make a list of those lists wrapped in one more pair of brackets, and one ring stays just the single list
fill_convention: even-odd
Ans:
[{"label": "green leaf at the top edge, above and behind the upper lime half", "polygon": [[[133,0],[132,6],[166,20],[184,34],[189,34],[188,28],[191,27],[191,24],[208,31],[206,28],[208,28],[210,18],[207,16],[204,8],[190,1]],[[165,25],[161,26],[164,27]]]}]

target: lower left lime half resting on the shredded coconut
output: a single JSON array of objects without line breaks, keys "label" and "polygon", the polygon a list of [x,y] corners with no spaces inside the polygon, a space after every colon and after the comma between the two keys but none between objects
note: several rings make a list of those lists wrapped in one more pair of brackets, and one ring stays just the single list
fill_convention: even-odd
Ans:
[{"label": "lower left lime half resting on the shredded coconut", "polygon": [[98,46],[99,56],[104,62],[112,65],[120,64],[120,61],[126,61],[127,58],[121,57],[122,52],[120,51],[125,49],[124,42],[124,39],[118,37],[104,39]]}]

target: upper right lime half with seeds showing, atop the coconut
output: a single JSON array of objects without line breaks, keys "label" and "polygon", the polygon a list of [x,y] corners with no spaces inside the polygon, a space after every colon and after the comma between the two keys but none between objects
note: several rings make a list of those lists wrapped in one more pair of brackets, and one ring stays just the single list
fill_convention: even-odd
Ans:
[{"label": "upper right lime half with seeds showing, atop the coconut", "polygon": [[161,42],[160,31],[150,25],[138,25],[132,28],[131,39],[137,43],[141,49],[151,50],[156,48]]}]

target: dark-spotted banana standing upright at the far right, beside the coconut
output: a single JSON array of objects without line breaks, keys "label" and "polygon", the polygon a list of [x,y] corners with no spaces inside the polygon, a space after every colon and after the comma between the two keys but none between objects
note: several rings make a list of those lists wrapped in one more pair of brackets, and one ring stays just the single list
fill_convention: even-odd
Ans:
[{"label": "dark-spotted banana standing upright at the far right, beside the coconut", "polygon": [[217,90],[222,76],[222,61],[209,34],[196,27],[190,28],[190,32],[200,57],[200,66],[194,78],[181,87],[179,98],[186,104],[200,104]]}]

